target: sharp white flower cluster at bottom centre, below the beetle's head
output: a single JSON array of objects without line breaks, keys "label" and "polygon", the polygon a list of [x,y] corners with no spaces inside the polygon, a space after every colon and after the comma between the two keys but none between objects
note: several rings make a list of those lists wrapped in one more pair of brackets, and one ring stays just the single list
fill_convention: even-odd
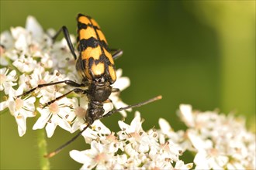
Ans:
[{"label": "sharp white flower cluster at bottom centre, below the beetle's head", "polygon": [[[126,124],[119,121],[121,131],[109,131],[102,123],[95,123],[95,130],[83,133],[91,148],[85,151],[73,150],[71,158],[83,164],[81,169],[190,169],[193,164],[184,164],[179,156],[183,148],[170,136],[176,135],[171,129],[164,129],[167,121],[161,119],[160,131],[144,131],[140,113]],[[182,137],[182,136],[181,136]]]}]

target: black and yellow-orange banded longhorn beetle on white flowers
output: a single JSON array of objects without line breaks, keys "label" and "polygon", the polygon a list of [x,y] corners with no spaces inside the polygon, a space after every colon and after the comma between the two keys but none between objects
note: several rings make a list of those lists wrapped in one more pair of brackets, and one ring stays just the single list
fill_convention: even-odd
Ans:
[{"label": "black and yellow-orange banded longhorn beetle on white flowers", "polygon": [[[25,96],[34,90],[52,86],[59,83],[66,83],[71,87],[76,87],[73,90],[64,93],[61,97],[57,97],[55,100],[51,100],[44,104],[43,107],[53,104],[56,100],[60,100],[63,97],[66,97],[69,93],[78,93],[85,94],[88,97],[88,109],[85,114],[85,128],[74,136],[70,141],[67,141],[64,145],[61,145],[60,148],[57,148],[55,151],[51,152],[45,157],[50,158],[56,155],[59,151],[62,150],[65,146],[69,145],[74,141],[78,136],[85,131],[89,126],[91,126],[95,120],[101,119],[102,117],[109,117],[113,113],[116,113],[120,110],[126,110],[131,107],[140,107],[144,104],[153,102],[154,100],[161,99],[161,96],[154,97],[150,100],[144,101],[139,104],[130,105],[127,107],[121,107],[119,109],[110,110],[108,113],[104,114],[105,110],[103,104],[105,102],[111,102],[109,96],[112,92],[119,91],[119,89],[112,88],[112,83],[116,81],[116,69],[114,65],[114,59],[118,58],[123,54],[123,51],[120,49],[109,49],[108,43],[102,30],[100,29],[97,22],[94,19],[87,15],[78,14],[78,37],[77,37],[77,49],[79,57],[77,59],[76,54],[74,53],[74,47],[71,43],[71,38],[66,26],[62,26],[61,29],[53,37],[53,40],[57,39],[57,36],[61,32],[64,33],[64,37],[67,40],[67,45],[71,49],[71,53],[74,56],[74,59],[77,59],[76,70],[79,75],[82,77],[81,83],[76,83],[72,80],[64,80],[54,83],[45,83],[39,84],[37,87],[22,93],[18,97]],[[88,87],[84,90],[78,87]]]}]

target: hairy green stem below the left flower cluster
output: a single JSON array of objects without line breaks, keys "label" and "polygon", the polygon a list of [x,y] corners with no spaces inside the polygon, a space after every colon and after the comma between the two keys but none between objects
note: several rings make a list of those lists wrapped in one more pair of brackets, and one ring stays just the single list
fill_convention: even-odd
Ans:
[{"label": "hairy green stem below the left flower cluster", "polygon": [[43,129],[39,129],[36,131],[37,131],[37,146],[38,146],[39,158],[40,158],[40,169],[48,170],[50,169],[49,159],[43,157],[43,155],[47,155],[47,141],[46,141],[45,132]]}]

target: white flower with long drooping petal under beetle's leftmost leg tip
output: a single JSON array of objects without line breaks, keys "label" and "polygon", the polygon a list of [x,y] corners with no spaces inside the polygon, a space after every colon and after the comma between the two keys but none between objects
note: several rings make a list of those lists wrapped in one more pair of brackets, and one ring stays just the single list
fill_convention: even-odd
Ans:
[{"label": "white flower with long drooping petal under beetle's leftmost leg tip", "polygon": [[22,93],[22,87],[18,90],[9,90],[9,99],[0,103],[0,111],[9,107],[10,113],[16,118],[18,124],[19,136],[23,136],[26,133],[26,118],[35,117],[35,97],[16,98],[16,96]]}]

